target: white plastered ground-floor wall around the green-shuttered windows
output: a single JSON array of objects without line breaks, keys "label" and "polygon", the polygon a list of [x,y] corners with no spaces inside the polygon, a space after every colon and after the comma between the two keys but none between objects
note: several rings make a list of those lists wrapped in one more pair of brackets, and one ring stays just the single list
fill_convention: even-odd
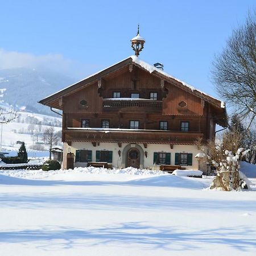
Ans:
[{"label": "white plastered ground-floor wall around the green-shuttered windows", "polygon": [[[126,159],[122,159],[122,151],[127,146],[127,143],[122,143],[122,147],[118,147],[117,143],[100,143],[94,147],[90,142],[72,142],[72,146],[68,146],[64,143],[63,151],[63,167],[67,166],[67,153],[71,152],[76,155],[76,150],[92,150],[92,162],[96,162],[96,150],[109,150],[113,151],[112,165],[114,168],[124,168]],[[169,152],[171,153],[171,165],[175,165],[175,153],[185,152],[192,153],[192,166],[184,166],[187,169],[198,170],[199,162],[195,158],[196,154],[202,152],[195,145],[174,145],[173,148],[169,144],[147,144],[147,148],[144,148],[143,144],[139,144],[143,149],[143,152],[147,151],[147,158],[143,155],[143,168],[151,168],[159,170],[159,166],[154,166],[154,152]],[[118,151],[121,151],[119,156]],[[84,167],[86,163],[75,163],[75,167]]]}]

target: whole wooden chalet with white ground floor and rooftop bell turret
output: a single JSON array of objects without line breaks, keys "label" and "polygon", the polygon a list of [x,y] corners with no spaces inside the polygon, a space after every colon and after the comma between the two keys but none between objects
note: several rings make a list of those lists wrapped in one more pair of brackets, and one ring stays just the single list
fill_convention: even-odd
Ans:
[{"label": "whole wooden chalet with white ground floor and rooftop bell turret", "polygon": [[195,141],[228,125],[223,102],[139,59],[143,40],[131,40],[137,56],[39,101],[62,110],[64,168],[197,169]]}]

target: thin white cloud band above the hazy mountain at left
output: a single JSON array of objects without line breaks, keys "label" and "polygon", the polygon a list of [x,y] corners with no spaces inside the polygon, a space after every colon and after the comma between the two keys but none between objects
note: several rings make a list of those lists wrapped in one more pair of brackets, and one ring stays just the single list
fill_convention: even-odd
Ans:
[{"label": "thin white cloud band above the hazy mountain at left", "polygon": [[60,54],[34,55],[0,49],[0,69],[51,69],[72,77],[85,77],[97,71],[97,65],[79,64]]}]

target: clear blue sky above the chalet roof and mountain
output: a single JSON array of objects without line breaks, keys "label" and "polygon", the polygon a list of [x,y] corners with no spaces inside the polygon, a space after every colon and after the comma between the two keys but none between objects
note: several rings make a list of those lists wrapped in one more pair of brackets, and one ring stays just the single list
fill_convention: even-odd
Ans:
[{"label": "clear blue sky above the chalet roof and mountain", "polygon": [[0,68],[49,67],[81,79],[133,55],[130,39],[146,39],[141,59],[217,96],[214,54],[255,1],[0,1]]}]

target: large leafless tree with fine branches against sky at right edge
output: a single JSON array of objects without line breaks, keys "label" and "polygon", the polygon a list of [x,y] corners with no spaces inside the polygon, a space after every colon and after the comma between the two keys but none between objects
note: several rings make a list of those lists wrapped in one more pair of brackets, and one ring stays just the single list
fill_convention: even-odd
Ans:
[{"label": "large leafless tree with fine branches against sky at right edge", "polygon": [[256,117],[256,11],[233,31],[213,62],[212,74],[218,93],[242,118],[250,118],[250,127]]}]

